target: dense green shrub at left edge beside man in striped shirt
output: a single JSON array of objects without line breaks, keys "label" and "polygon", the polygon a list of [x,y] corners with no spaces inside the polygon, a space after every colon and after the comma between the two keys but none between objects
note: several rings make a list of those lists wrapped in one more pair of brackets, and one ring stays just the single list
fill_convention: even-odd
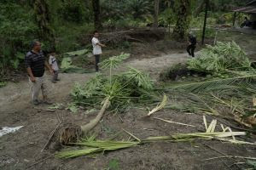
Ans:
[{"label": "dense green shrub at left edge beside man in striped shirt", "polygon": [[32,8],[14,2],[0,3],[0,66],[4,70],[1,74],[6,74],[7,67],[19,68],[38,31],[33,19]]}]

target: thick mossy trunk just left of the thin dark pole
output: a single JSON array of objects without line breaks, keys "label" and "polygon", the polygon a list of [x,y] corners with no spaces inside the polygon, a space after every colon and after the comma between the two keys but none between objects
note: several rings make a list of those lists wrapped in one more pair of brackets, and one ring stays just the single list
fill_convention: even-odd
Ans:
[{"label": "thick mossy trunk just left of the thin dark pole", "polygon": [[175,4],[175,13],[177,15],[176,26],[173,30],[172,37],[177,41],[184,40],[189,30],[191,2],[190,0],[177,0]]}]

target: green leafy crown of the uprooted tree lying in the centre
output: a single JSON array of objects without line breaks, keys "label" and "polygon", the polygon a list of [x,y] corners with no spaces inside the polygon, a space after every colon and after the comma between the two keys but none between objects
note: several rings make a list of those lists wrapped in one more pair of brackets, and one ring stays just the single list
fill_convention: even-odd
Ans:
[{"label": "green leafy crown of the uprooted tree lying in the centre", "polygon": [[84,84],[77,83],[72,91],[75,103],[85,106],[100,105],[102,99],[108,97],[113,108],[123,108],[131,102],[137,103],[145,99],[145,95],[154,89],[154,84],[147,74],[129,68],[128,71],[113,75],[113,69],[127,57],[129,54],[120,54],[101,63],[102,69],[109,70],[109,76],[96,74],[96,77]]}]

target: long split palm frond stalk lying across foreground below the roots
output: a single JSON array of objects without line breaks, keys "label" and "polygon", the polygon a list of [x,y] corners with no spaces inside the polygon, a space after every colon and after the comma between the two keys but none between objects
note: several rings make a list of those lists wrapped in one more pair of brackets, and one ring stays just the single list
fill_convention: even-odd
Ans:
[{"label": "long split palm frond stalk lying across foreground below the roots", "polygon": [[[142,139],[141,141],[129,141],[129,140],[128,141],[112,141],[112,140],[90,141],[90,140],[87,140],[87,141],[75,143],[75,145],[87,146],[89,147],[88,149],[84,149],[84,147],[82,147],[83,148],[82,150],[61,151],[57,153],[56,156],[59,158],[72,158],[77,156],[87,156],[90,154],[95,154],[96,152],[102,152],[107,150],[120,150],[120,149],[137,146],[139,144],[148,144],[148,143],[160,142],[160,141],[188,142],[195,139],[218,139],[218,138],[232,137],[236,135],[238,136],[246,135],[246,133],[243,133],[243,132],[178,133],[171,136],[148,137],[147,139]],[[132,135],[132,137],[134,138],[134,135]]]}]

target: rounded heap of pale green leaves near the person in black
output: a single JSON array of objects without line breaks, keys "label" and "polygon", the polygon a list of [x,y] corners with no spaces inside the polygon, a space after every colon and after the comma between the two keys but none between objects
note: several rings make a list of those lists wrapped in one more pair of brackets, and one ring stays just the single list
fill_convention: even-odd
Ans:
[{"label": "rounded heap of pale green leaves near the person in black", "polygon": [[189,59],[188,68],[205,71],[212,75],[230,71],[253,71],[251,62],[236,42],[217,42],[201,50],[197,58]]}]

